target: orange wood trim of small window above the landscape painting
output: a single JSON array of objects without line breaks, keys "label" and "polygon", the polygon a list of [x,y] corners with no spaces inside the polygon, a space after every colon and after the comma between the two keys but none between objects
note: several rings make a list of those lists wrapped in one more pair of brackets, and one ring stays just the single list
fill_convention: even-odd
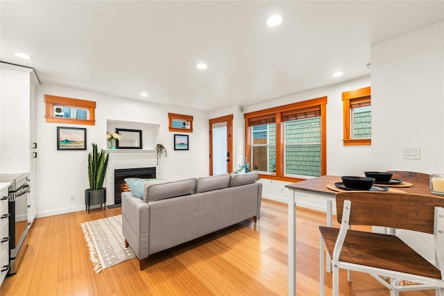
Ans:
[{"label": "orange wood trim of small window above the landscape painting", "polygon": [[[80,100],[78,98],[65,98],[62,96],[44,95],[44,102],[46,103],[45,118],[46,122],[52,123],[70,123],[70,124],[96,124],[96,102]],[[53,114],[53,106],[60,105],[65,107],[80,107],[89,110],[89,119],[65,119],[56,117]]]}]

